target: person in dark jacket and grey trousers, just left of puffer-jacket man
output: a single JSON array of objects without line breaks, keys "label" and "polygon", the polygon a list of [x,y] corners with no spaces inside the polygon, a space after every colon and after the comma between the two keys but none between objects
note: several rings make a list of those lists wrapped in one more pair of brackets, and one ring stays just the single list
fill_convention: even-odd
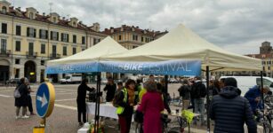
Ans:
[{"label": "person in dark jacket and grey trousers, just left of puffer-jacket man", "polygon": [[[205,84],[201,81],[200,77],[196,77],[197,81],[193,84],[193,98],[195,103],[195,113],[200,113],[201,126],[205,125],[204,112],[205,112],[205,96],[206,89]],[[197,119],[194,120],[194,124],[197,125]]]}]

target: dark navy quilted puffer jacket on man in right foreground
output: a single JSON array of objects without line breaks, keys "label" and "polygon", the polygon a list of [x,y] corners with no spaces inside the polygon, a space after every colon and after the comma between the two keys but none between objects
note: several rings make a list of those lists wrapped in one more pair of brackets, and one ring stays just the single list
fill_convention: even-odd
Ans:
[{"label": "dark navy quilted puffer jacket on man in right foreground", "polygon": [[215,121],[214,133],[244,133],[245,123],[249,133],[257,132],[249,102],[238,95],[235,87],[224,87],[214,96],[209,113]]}]

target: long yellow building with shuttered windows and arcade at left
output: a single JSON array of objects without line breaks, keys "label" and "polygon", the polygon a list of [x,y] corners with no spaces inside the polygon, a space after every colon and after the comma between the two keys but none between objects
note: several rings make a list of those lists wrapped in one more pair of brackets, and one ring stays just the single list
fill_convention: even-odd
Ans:
[{"label": "long yellow building with shuttered windows and arcade at left", "polygon": [[[39,14],[33,7],[23,12],[0,1],[0,82],[20,77],[43,82],[47,60],[84,51],[106,36],[99,23],[87,27],[56,12]],[[49,77],[58,82],[62,74]]]}]

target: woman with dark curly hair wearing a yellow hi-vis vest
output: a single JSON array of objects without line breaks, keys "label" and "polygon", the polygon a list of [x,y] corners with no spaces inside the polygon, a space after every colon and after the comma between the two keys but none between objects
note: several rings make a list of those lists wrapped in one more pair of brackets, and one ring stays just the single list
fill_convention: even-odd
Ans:
[{"label": "woman with dark curly hair wearing a yellow hi-vis vest", "polygon": [[125,88],[121,90],[118,98],[116,99],[116,113],[118,115],[118,122],[120,125],[121,133],[129,133],[132,122],[132,113],[134,103],[134,88],[135,82],[129,79],[125,83]]}]

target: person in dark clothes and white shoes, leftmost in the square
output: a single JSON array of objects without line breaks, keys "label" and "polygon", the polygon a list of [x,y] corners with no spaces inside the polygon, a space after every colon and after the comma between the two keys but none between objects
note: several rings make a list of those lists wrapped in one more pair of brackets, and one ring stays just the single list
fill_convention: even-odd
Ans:
[{"label": "person in dark clothes and white shoes, leftmost in the square", "polygon": [[27,115],[27,106],[28,106],[28,86],[26,78],[21,78],[19,85],[16,87],[16,90],[20,91],[20,98],[15,98],[16,106],[16,119],[19,119],[20,107],[22,107],[22,117],[23,119],[29,118]]}]

